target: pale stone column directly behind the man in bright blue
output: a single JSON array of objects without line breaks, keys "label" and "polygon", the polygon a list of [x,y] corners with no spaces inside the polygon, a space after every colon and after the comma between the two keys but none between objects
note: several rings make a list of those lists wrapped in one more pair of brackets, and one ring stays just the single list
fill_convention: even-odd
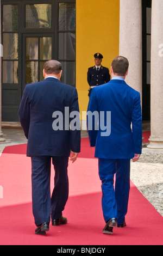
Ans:
[{"label": "pale stone column directly behind the man in bright blue", "polygon": [[129,60],[126,82],[142,98],[142,4],[120,0],[120,53]]}]

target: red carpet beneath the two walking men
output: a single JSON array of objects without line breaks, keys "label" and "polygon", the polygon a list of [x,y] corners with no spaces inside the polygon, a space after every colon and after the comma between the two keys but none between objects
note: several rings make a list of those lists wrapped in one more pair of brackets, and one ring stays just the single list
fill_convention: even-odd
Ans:
[{"label": "red carpet beneath the two walking men", "polygon": [[0,157],[0,245],[162,245],[163,218],[132,182],[127,227],[115,228],[113,235],[102,234],[101,181],[87,138],[82,139],[78,160],[68,166],[70,197],[64,211],[68,224],[50,225],[45,236],[35,235],[26,147],[6,147]]}]

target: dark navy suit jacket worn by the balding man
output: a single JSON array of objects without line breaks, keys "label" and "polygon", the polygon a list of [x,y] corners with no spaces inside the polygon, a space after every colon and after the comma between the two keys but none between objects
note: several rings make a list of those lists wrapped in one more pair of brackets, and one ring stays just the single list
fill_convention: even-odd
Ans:
[{"label": "dark navy suit jacket worn by the balding man", "polygon": [[53,77],[27,84],[18,111],[28,138],[27,156],[70,156],[71,150],[80,152],[80,130],[53,130],[53,112],[62,113],[64,124],[65,107],[70,113],[79,112],[76,88]]}]

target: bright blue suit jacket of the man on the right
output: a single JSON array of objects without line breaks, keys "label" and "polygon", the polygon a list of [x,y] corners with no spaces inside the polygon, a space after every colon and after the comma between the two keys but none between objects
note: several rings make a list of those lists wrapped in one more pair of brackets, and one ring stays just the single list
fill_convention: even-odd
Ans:
[{"label": "bright blue suit jacket of the man on the right", "polygon": [[[125,81],[111,80],[102,86],[93,88],[87,111],[97,111],[99,127],[95,129],[93,119],[92,130],[88,130],[90,145],[95,147],[95,157],[104,159],[132,159],[134,154],[142,150],[142,116],[140,93],[129,87]],[[111,132],[104,135],[106,112],[111,112]],[[104,119],[101,115],[104,112]],[[89,115],[87,115],[87,124]],[[132,127],[131,127],[132,125]],[[107,126],[106,126],[107,127]],[[108,128],[109,130],[109,128]]]}]

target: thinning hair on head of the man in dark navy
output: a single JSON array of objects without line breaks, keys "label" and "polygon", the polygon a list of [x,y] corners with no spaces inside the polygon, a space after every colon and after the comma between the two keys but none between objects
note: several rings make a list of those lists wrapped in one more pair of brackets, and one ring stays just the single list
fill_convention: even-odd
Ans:
[{"label": "thinning hair on head of the man in dark navy", "polygon": [[46,74],[55,74],[58,75],[62,70],[62,65],[57,60],[51,59],[45,62],[43,69]]}]

